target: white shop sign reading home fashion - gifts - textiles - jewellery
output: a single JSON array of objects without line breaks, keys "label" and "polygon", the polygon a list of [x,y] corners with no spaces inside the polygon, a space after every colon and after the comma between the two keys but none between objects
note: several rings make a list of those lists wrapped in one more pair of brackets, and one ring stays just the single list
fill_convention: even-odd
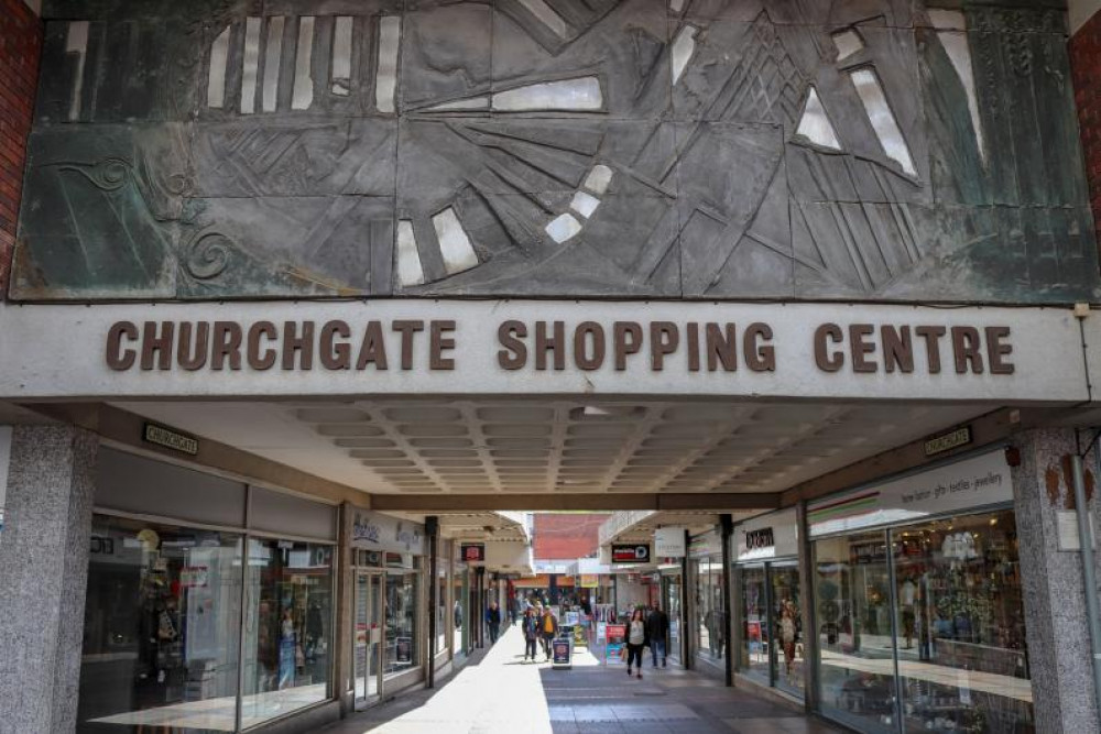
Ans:
[{"label": "white shop sign reading home fashion - gifts - textiles - jewellery", "polygon": [[820,536],[1012,501],[1010,468],[998,450],[819,500],[808,505],[807,521],[810,535]]}]

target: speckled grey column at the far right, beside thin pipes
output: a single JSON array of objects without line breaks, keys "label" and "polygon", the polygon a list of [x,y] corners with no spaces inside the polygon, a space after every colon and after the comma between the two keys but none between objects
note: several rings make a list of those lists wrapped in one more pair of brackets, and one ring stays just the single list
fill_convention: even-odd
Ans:
[{"label": "speckled grey column at the far right, beside thin pipes", "polygon": [[[1084,447],[1089,436],[1081,439]],[[1058,513],[1073,508],[1064,458],[1079,450],[1079,442],[1073,430],[1044,429],[1014,436],[1013,445],[1021,458],[1012,475],[1036,731],[1099,732],[1081,556],[1059,550]],[[1092,456],[1086,467],[1087,486],[1097,486]],[[1097,499],[1091,505],[1098,523]]]}]

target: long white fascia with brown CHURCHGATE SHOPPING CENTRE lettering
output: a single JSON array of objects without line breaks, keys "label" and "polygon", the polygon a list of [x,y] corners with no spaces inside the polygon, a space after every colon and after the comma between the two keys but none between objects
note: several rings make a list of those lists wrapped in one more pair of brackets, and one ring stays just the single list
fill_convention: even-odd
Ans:
[{"label": "long white fascia with brown CHURCHGATE SHOPPING CENTRE lettering", "polygon": [[[1087,399],[1069,309],[517,300],[4,306],[0,397]],[[1058,359],[1053,359],[1058,355]]]}]

